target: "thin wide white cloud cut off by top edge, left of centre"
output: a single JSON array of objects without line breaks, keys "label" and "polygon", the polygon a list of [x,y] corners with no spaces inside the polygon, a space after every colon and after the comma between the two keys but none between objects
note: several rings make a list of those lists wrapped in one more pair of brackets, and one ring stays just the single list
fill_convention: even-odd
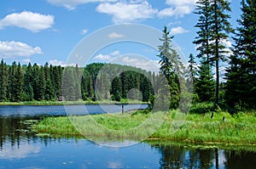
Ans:
[{"label": "thin wide white cloud cut off by top edge, left of centre", "polygon": [[47,0],[48,3],[51,3],[56,6],[62,6],[68,10],[75,9],[79,4],[85,3],[107,3],[107,2],[116,2],[117,0]]}]

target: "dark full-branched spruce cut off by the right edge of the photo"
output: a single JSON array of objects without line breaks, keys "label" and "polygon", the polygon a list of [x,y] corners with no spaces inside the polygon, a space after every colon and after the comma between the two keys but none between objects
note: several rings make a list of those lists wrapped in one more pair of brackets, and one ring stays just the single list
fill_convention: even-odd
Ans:
[{"label": "dark full-branched spruce cut off by the right edge of the photo", "polygon": [[226,73],[225,100],[231,108],[255,109],[256,103],[256,3],[241,1],[240,27],[236,29],[235,44]]}]

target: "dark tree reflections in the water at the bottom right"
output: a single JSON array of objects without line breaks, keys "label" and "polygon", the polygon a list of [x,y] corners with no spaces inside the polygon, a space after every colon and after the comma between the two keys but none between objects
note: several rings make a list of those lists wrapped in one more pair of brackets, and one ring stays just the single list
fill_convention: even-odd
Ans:
[{"label": "dark tree reflections in the water at the bottom right", "polygon": [[254,168],[256,154],[241,150],[192,149],[178,145],[154,145],[160,152],[160,169]]}]

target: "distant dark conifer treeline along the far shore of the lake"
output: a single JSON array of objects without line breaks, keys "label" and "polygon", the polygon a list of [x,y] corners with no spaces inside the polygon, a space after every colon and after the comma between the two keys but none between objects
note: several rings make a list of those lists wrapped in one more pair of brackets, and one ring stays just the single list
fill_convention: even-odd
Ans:
[{"label": "distant dark conifer treeline along the far shore of the lake", "polygon": [[2,59],[0,77],[1,102],[128,98],[147,102],[157,84],[154,73],[102,63],[64,68],[48,63],[44,66],[30,63],[21,66],[16,62],[6,65]]}]

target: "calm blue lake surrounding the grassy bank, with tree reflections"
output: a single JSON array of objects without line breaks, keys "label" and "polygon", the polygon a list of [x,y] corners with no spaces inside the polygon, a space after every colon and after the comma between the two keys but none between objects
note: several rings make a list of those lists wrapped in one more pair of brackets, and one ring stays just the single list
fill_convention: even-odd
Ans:
[{"label": "calm blue lake surrounding the grassy bank, with tree reflections", "polygon": [[[68,105],[74,115],[115,113],[121,105]],[[147,105],[125,105],[125,110]],[[255,168],[250,150],[142,142],[128,147],[102,146],[86,138],[38,136],[26,120],[66,115],[63,105],[0,106],[0,168]],[[127,140],[126,140],[127,141]]]}]

